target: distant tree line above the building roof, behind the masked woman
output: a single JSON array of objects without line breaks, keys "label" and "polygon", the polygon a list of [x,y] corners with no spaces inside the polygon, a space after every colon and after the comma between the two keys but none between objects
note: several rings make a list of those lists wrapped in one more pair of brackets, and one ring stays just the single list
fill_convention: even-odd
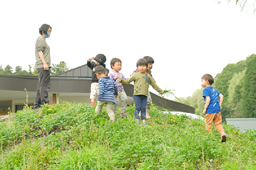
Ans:
[{"label": "distant tree line above the building roof, behind the masked woman", "polygon": [[[36,71],[36,67],[34,66],[32,68],[32,65],[28,65],[29,69],[28,71],[23,70],[21,66],[16,66],[15,69],[8,64],[5,68],[3,65],[0,65],[0,75],[23,75],[23,76],[38,76],[38,73]],[[51,67],[51,76],[57,75],[59,73],[62,73],[63,71],[68,71],[69,67],[67,67],[67,63],[64,61],[61,61],[59,64],[52,64]]]}]

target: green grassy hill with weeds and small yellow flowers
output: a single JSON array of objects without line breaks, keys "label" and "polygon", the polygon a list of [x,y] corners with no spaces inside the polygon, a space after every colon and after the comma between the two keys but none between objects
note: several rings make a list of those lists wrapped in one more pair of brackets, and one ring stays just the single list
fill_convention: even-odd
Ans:
[{"label": "green grassy hill with weeds and small yellow flowers", "polygon": [[[0,122],[0,169],[256,169],[256,131],[223,124],[227,142],[204,121],[163,114],[152,106],[149,126],[128,118],[109,123],[84,103],[25,108]],[[119,111],[120,112],[120,111]]]}]

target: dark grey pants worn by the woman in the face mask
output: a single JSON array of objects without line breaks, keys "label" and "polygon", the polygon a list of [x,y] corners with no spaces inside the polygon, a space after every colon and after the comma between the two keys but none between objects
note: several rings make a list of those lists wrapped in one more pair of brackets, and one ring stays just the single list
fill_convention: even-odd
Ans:
[{"label": "dark grey pants worn by the woman in the face mask", "polygon": [[34,108],[40,105],[49,104],[48,91],[51,87],[51,68],[49,70],[44,70],[43,68],[37,69],[38,73],[38,86],[36,90],[36,100],[34,103]]}]

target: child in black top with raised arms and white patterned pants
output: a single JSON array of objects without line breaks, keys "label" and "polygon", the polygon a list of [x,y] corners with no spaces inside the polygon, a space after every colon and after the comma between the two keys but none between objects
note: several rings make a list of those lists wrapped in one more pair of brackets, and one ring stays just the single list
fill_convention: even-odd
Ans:
[{"label": "child in black top with raised arms and white patterned pants", "polygon": [[[91,63],[92,60],[95,60],[96,63]],[[102,65],[104,68],[106,68],[106,65],[104,64],[106,62],[106,56],[104,54],[97,54],[96,57],[89,58],[87,61],[87,66],[92,69],[92,79],[91,79],[91,93],[90,93],[90,100],[91,100],[91,106],[95,106],[95,100],[97,98],[97,95],[99,93],[99,86],[98,86],[98,78],[95,74],[95,67],[97,65]]]}]

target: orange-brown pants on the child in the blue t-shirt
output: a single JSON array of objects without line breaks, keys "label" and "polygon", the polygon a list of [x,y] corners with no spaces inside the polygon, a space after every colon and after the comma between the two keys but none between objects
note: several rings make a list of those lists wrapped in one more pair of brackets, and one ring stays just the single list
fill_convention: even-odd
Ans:
[{"label": "orange-brown pants on the child in the blue t-shirt", "polygon": [[221,124],[222,118],[221,118],[220,112],[205,114],[205,128],[206,128],[207,132],[212,133],[212,122],[220,134],[222,132],[224,132],[223,126]]}]

